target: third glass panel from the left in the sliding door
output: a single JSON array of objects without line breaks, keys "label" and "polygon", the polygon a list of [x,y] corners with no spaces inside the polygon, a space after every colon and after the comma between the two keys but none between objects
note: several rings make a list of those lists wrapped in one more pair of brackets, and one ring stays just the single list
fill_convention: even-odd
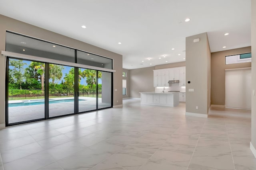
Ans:
[{"label": "third glass panel from the left in the sliding door", "polygon": [[96,110],[96,70],[78,70],[78,112]]}]

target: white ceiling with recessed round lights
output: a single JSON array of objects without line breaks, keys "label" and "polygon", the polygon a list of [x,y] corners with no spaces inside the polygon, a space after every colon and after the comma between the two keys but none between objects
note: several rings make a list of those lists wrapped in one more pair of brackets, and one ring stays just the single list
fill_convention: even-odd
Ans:
[{"label": "white ceiling with recessed round lights", "polygon": [[[204,32],[211,52],[250,46],[250,4],[251,0],[0,0],[0,14],[119,53],[123,68],[134,69],[185,61],[186,37]],[[191,20],[185,22],[186,18]]]}]

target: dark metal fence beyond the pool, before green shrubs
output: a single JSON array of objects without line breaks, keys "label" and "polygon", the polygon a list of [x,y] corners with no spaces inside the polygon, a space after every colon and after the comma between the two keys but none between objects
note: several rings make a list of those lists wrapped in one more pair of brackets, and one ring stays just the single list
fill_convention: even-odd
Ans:
[{"label": "dark metal fence beyond the pool, before green shrubs", "polygon": [[[101,98],[101,89],[98,89],[98,98]],[[50,98],[72,97],[74,90],[49,89]],[[79,90],[79,96],[96,98],[96,88]],[[9,100],[44,99],[44,91],[41,89],[9,89]]]}]

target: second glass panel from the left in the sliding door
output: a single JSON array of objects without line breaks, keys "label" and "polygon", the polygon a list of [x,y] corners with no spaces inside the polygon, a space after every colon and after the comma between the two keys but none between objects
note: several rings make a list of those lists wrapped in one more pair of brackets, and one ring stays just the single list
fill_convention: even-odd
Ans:
[{"label": "second glass panel from the left in the sliding door", "polygon": [[49,64],[49,117],[74,113],[74,67]]}]

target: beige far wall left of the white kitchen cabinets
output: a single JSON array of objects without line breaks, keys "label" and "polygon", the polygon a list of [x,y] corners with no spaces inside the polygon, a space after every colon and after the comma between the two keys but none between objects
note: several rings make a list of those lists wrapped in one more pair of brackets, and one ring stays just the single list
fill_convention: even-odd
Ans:
[{"label": "beige far wall left of the white kitchen cabinets", "polygon": [[154,92],[155,67],[146,67],[130,70],[130,97],[140,98],[139,92]]}]

